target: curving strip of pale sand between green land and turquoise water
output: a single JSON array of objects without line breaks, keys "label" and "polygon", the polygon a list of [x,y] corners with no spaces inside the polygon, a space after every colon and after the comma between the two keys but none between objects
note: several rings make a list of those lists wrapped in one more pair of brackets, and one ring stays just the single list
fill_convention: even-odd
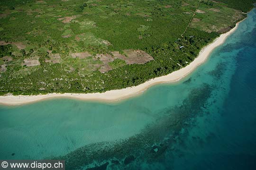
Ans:
[{"label": "curving strip of pale sand between green land and turquoise water", "polygon": [[223,44],[228,38],[228,36],[238,28],[238,25],[240,22],[238,22],[234,28],[229,30],[229,32],[225,34],[221,34],[213,42],[203,47],[199,55],[186,67],[181,68],[177,71],[174,71],[166,76],[160,76],[160,77],[150,79],[143,84],[127,87],[119,90],[110,90],[104,93],[48,93],[43,95],[17,95],[17,96],[6,95],[6,96],[0,96],[0,105],[21,105],[21,104],[38,102],[41,100],[52,99],[52,98],[73,98],[73,99],[86,100],[86,101],[119,102],[121,100],[143,93],[146,89],[148,89],[153,85],[177,82],[183,79],[185,76],[188,76],[193,70],[195,70],[198,66],[203,64],[208,59],[211,52],[216,47]]}]

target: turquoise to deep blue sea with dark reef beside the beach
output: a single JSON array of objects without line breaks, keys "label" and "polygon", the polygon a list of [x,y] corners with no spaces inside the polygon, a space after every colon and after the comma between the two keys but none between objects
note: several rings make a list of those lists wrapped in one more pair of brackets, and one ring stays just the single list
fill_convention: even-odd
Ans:
[{"label": "turquoise to deep blue sea with dark reef beside the beach", "polygon": [[256,9],[175,84],[119,103],[0,106],[0,159],[64,159],[68,170],[256,170]]}]

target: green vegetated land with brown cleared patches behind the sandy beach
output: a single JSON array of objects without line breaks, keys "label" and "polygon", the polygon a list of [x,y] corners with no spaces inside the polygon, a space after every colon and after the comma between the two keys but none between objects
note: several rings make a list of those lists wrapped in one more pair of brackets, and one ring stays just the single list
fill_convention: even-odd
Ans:
[{"label": "green vegetated land with brown cleared patches behind the sandy beach", "polygon": [[[221,1],[195,13],[199,0],[1,0],[0,94],[104,92],[169,74],[252,7]],[[129,49],[154,60],[127,64]]]}]

